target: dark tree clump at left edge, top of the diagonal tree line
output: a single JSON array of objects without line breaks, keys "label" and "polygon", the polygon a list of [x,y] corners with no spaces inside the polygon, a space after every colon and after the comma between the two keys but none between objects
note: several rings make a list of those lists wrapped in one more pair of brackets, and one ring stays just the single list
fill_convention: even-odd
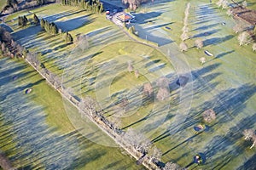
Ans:
[{"label": "dark tree clump at left edge, top of the diagonal tree line", "polygon": [[21,57],[23,48],[15,42],[9,31],[0,26],[0,54],[6,57]]}]

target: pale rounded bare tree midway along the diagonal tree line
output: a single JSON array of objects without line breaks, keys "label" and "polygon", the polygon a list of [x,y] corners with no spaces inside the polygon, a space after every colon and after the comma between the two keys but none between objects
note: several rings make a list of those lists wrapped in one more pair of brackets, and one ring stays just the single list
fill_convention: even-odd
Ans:
[{"label": "pale rounded bare tree midway along the diagonal tree line", "polygon": [[79,102],[79,109],[89,114],[90,116],[96,115],[96,101],[90,97],[85,97]]}]

